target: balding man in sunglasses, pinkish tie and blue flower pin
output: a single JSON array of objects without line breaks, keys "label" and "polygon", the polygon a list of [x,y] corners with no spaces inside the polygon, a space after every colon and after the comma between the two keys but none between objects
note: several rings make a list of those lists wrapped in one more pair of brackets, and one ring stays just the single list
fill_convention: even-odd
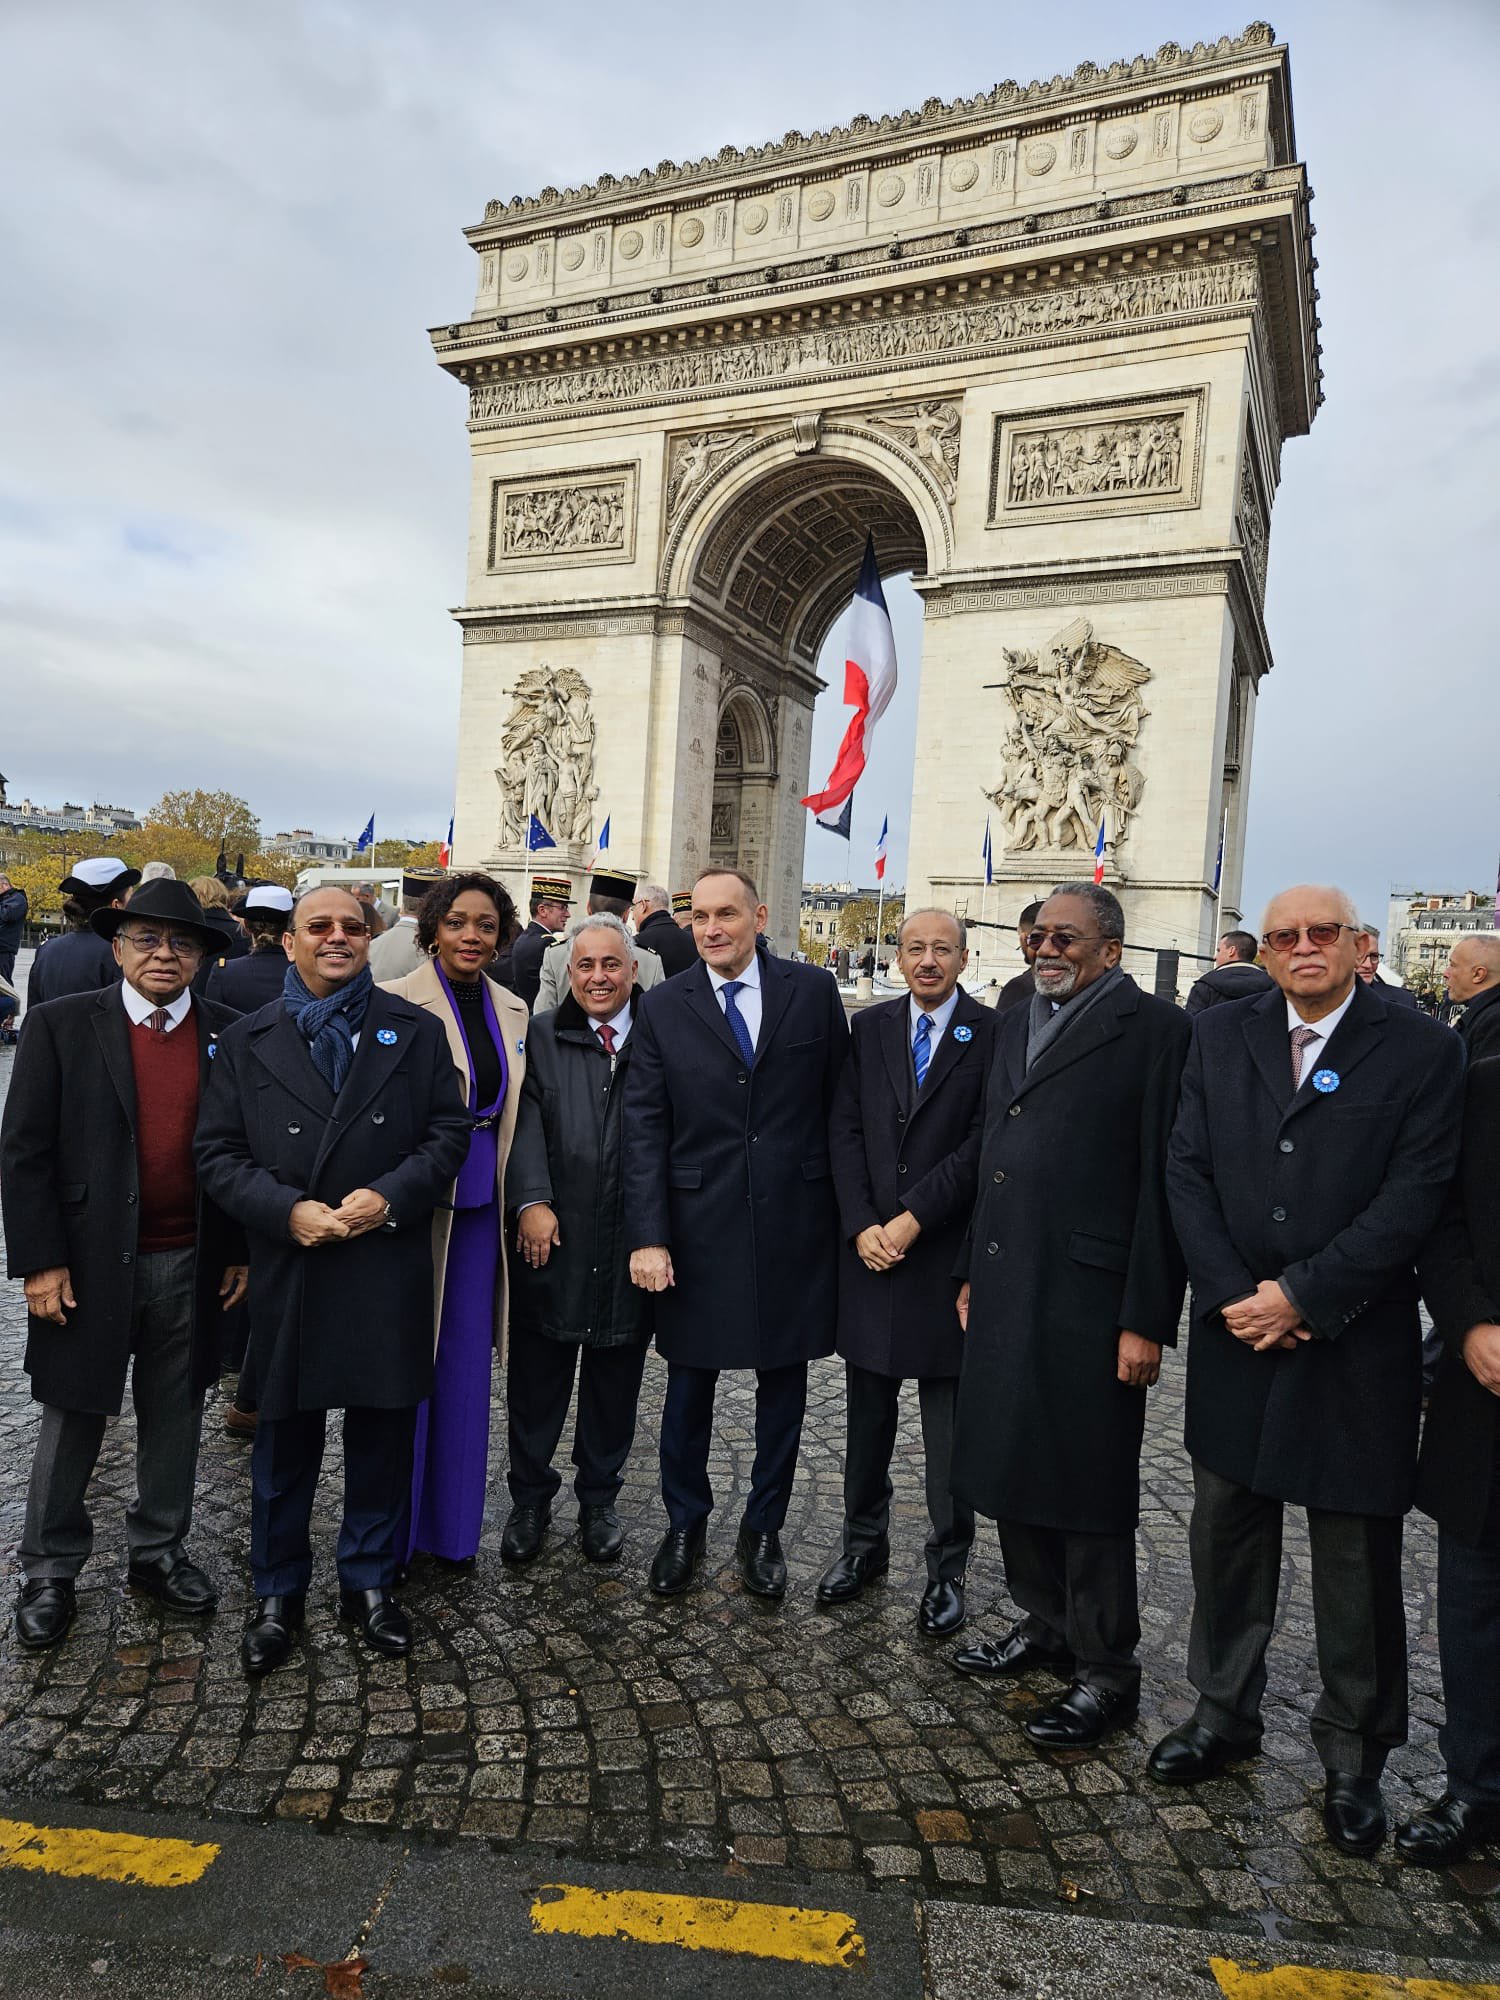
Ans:
[{"label": "balding man in sunglasses, pinkish tie and blue flower pin", "polygon": [[1282,1512],[1308,1514],[1324,1828],[1386,1834],[1380,1772],[1406,1742],[1402,1516],[1416,1486],[1416,1256],[1458,1158],[1464,1052],[1358,978],[1342,890],[1266,910],[1276,990],[1200,1014],[1172,1132],[1172,1218],[1192,1282],[1186,1444],[1190,1722],[1156,1746],[1194,1784],[1260,1746]]}]

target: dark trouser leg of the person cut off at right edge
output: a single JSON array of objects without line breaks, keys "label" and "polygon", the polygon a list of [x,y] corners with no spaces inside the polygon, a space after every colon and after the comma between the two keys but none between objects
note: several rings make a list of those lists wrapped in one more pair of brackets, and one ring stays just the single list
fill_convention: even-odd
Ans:
[{"label": "dark trouser leg of the person cut off at right edge", "polygon": [[1438,1534],[1438,1658],[1448,1790],[1500,1808],[1500,1536],[1474,1548]]}]

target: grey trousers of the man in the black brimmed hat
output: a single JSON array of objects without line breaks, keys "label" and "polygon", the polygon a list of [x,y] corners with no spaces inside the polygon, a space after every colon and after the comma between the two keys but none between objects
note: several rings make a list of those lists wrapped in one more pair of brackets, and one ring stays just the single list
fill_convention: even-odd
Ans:
[{"label": "grey trousers of the man in the black brimmed hat", "polygon": [[[126,1508],[130,1562],[172,1558],[192,1526],[198,1434],[204,1398],[192,1386],[192,1250],[154,1250],[136,1258],[130,1304],[130,1392],[136,1406],[136,1498]],[[66,1326],[56,1332],[68,1338]],[[42,1404],[20,1568],[42,1576],[78,1576],[94,1548],[88,1482],[104,1444],[106,1418],[90,1410]]]}]

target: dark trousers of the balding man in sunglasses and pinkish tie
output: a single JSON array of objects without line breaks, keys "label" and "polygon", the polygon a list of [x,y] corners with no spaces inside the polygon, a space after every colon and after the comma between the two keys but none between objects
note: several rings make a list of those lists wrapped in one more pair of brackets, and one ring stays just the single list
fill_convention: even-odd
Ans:
[{"label": "dark trousers of the balding man in sunglasses and pinkish tie", "polygon": [[[1230,1742],[1260,1740],[1266,1646],[1282,1580],[1280,1500],[1194,1462],[1192,1632],[1196,1722]],[[1378,1778],[1406,1742],[1402,1522],[1308,1508],[1312,1624],[1322,1694],[1312,1744],[1324,1770]]]}]

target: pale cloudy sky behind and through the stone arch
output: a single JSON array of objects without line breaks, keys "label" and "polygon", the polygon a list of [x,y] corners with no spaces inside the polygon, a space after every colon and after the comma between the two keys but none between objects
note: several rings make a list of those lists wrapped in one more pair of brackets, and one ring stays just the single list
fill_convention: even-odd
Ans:
[{"label": "pale cloudy sky behind and through the stone arch", "polygon": [[[438,836],[468,446],[424,328],[468,312],[484,200],[1238,32],[1226,4],[8,8],[12,798],[206,784],[270,830],[374,810]],[[1396,880],[1488,886],[1500,846],[1500,8],[1322,0],[1274,26],[1318,190],[1328,404],[1282,456],[1246,902],[1314,874],[1374,914]],[[902,686],[862,880],[886,802],[902,878],[910,812],[920,616],[890,596]],[[808,874],[846,866],[814,834]]]}]

